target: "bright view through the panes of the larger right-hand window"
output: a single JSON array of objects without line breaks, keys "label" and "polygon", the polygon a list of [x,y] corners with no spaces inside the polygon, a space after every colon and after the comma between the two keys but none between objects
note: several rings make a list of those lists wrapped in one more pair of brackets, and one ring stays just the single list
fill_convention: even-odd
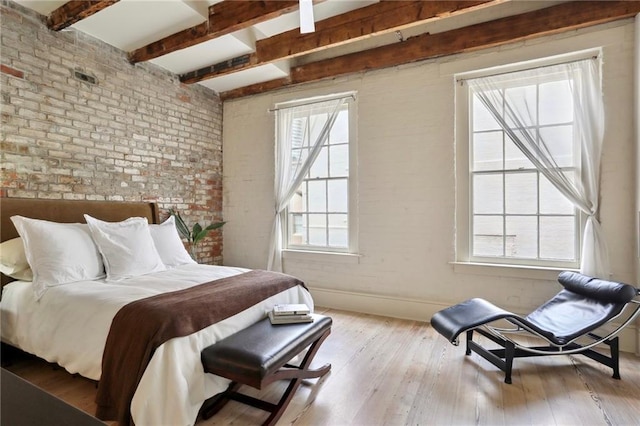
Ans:
[{"label": "bright view through the panes of the larger right-hand window", "polygon": [[[575,180],[580,144],[571,84],[562,74],[503,79],[495,90],[528,112],[526,129],[554,151],[563,173]],[[577,264],[580,215],[516,146],[473,88],[470,90],[470,254],[479,261]],[[496,259],[498,258],[498,259]],[[493,259],[493,260],[492,260]]]}]

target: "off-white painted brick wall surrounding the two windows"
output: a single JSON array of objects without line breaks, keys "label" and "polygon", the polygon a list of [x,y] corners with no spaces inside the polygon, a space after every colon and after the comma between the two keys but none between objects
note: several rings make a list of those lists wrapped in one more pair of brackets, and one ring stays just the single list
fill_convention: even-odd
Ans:
[{"label": "off-white painted brick wall surrounding the two windows", "polygon": [[613,278],[635,280],[633,20],[471,54],[227,101],[223,114],[225,264],[264,268],[271,232],[277,102],[357,92],[358,263],[286,259],[334,307],[428,319],[484,297],[528,312],[555,294],[556,272],[454,266],[454,74],[602,47],[606,141],[601,219]]}]

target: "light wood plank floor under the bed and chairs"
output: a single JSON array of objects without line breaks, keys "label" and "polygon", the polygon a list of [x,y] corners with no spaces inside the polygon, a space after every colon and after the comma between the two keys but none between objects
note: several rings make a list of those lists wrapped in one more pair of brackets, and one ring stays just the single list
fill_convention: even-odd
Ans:
[{"label": "light wood plank floor under the bed and chairs", "polygon": [[[622,380],[580,356],[521,358],[513,384],[478,355],[464,355],[428,324],[317,309],[333,318],[314,365],[332,364],[295,395],[279,425],[638,425],[640,358],[623,354]],[[33,358],[9,370],[93,413],[95,383]],[[262,392],[275,402],[283,383]],[[230,402],[198,426],[260,424],[266,413]]]}]

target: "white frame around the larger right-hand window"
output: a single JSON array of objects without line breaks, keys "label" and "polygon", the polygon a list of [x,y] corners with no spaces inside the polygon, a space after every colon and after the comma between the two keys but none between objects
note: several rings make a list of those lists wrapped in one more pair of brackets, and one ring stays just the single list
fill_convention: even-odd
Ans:
[{"label": "white frame around the larger right-hand window", "polygon": [[[576,258],[574,261],[554,261],[547,259],[526,259],[515,257],[482,257],[473,256],[473,154],[472,154],[472,125],[471,109],[472,97],[469,85],[465,79],[482,76],[495,75],[500,73],[516,72],[524,69],[539,66],[551,65],[554,63],[568,62],[571,60],[584,59],[593,56],[593,52],[579,52],[562,57],[541,59],[539,61],[529,61],[522,64],[507,65],[504,67],[465,72],[455,76],[456,78],[456,252],[455,262],[461,264],[494,265],[506,267],[533,267],[542,269],[579,269],[582,246],[582,234],[586,224],[585,215],[579,209],[574,208],[576,213],[576,229],[574,239],[574,250]],[[579,149],[575,147],[574,149]],[[578,155],[576,158],[580,158]],[[580,164],[576,165],[577,173],[580,173]],[[508,173],[508,172],[506,172]],[[539,175],[539,172],[538,172]],[[539,201],[539,200],[538,200]],[[504,202],[504,201],[503,201]],[[539,203],[538,203],[539,208]],[[503,215],[506,213],[503,212]],[[539,213],[538,217],[544,216]],[[538,247],[538,250],[540,248]]]}]

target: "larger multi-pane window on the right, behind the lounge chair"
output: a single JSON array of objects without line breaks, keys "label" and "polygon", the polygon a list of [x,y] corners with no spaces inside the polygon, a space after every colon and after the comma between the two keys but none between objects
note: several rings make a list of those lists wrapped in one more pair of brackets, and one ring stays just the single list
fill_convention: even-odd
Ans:
[{"label": "larger multi-pane window on the right, behind the lounge chair", "polygon": [[[540,67],[501,72],[490,85],[468,79],[458,86],[458,260],[580,265],[580,210],[542,173],[553,167],[568,185],[580,181],[572,93],[579,79]],[[522,148],[523,139],[530,145]]]}]

